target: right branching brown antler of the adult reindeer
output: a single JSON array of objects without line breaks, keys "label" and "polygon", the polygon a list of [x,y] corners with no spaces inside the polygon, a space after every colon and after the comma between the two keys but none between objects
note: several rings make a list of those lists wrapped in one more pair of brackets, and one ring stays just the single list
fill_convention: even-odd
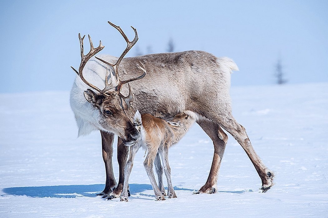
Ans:
[{"label": "right branching brown antler of the adult reindeer", "polygon": [[[114,27],[115,29],[117,29],[117,30],[121,33],[121,35],[123,36],[123,38],[125,39],[125,41],[126,41],[126,43],[127,43],[127,46],[126,46],[125,50],[123,51],[123,53],[121,54],[121,56],[118,58],[118,60],[116,61],[115,64],[108,63],[107,61],[104,61],[104,60],[102,60],[102,59],[100,59],[100,58],[98,58],[98,57],[95,57],[95,58],[98,59],[99,61],[101,61],[101,62],[103,62],[103,63],[105,63],[105,64],[108,64],[108,65],[110,65],[111,67],[113,67],[116,81],[114,81],[114,80],[112,79],[112,83],[111,83],[111,84],[113,84],[113,86],[116,87],[116,91],[119,93],[120,97],[124,99],[124,101],[126,102],[126,104],[128,105],[128,107],[130,108],[130,103],[131,103],[131,101],[133,100],[133,95],[132,95],[132,91],[131,91],[131,86],[130,86],[130,84],[128,84],[128,85],[129,85],[129,95],[128,95],[127,97],[123,96],[123,95],[120,93],[120,92],[121,92],[121,89],[122,89],[123,85],[126,84],[126,83],[129,83],[129,82],[132,82],[132,81],[135,81],[135,80],[140,80],[140,79],[144,78],[144,77],[146,76],[146,69],[145,69],[144,64],[142,64],[142,63],[140,62],[142,66],[138,65],[138,67],[139,67],[142,71],[144,71],[144,73],[143,73],[141,76],[139,76],[139,77],[136,77],[136,78],[132,78],[132,79],[128,79],[128,80],[124,80],[124,81],[122,81],[122,80],[120,80],[120,77],[119,77],[119,74],[118,74],[118,66],[119,66],[119,64],[121,63],[123,57],[128,53],[128,51],[133,47],[133,45],[135,45],[135,43],[138,41],[138,39],[139,39],[139,38],[138,38],[138,33],[137,33],[137,30],[136,30],[134,27],[131,26],[131,28],[134,30],[134,34],[135,34],[135,36],[134,36],[134,39],[130,42],[129,39],[128,39],[128,37],[125,35],[125,33],[123,32],[123,30],[121,29],[121,27],[116,26],[116,25],[114,25],[113,23],[111,23],[111,22],[109,22],[109,21],[108,21],[108,23],[109,23],[112,27]],[[113,78],[113,77],[112,77],[112,78]],[[106,88],[105,88],[105,89],[106,89]]]}]

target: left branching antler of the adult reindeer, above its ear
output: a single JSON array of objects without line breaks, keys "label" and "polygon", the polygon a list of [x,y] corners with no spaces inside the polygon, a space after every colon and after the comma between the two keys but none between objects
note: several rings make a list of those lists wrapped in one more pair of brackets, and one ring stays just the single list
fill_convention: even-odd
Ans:
[{"label": "left branching antler of the adult reindeer, above its ear", "polygon": [[[85,66],[85,64],[87,64],[87,62],[89,61],[89,59],[97,54],[99,51],[101,51],[105,46],[103,46],[101,44],[101,41],[99,42],[99,46],[94,48],[93,47],[93,44],[92,44],[92,40],[91,40],[91,37],[90,35],[88,35],[89,37],[89,41],[90,41],[90,51],[88,52],[88,54],[84,55],[84,50],[83,50],[83,40],[84,40],[84,37],[81,37],[81,34],[79,33],[79,40],[80,40],[80,47],[81,47],[81,64],[80,64],[80,67],[79,67],[79,71],[75,70],[72,66],[72,69],[75,71],[75,73],[77,73],[77,75],[79,75],[79,77],[81,78],[81,80],[86,83],[88,86],[90,86],[91,88],[97,90],[98,92],[100,93],[103,93],[103,90],[100,90],[99,88],[97,88],[96,86],[92,85],[90,82],[88,82],[84,77],[83,77],[83,68]],[[105,87],[106,88],[106,87]]]}]

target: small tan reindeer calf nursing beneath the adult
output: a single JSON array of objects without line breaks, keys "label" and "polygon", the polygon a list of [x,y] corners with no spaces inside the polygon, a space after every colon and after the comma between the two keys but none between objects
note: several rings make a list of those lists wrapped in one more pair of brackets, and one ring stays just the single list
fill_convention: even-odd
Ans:
[{"label": "small tan reindeer calf nursing beneath the adult", "polygon": [[[173,120],[168,122],[161,118],[155,118],[150,114],[140,115],[139,111],[135,113],[133,125],[139,132],[139,136],[134,143],[125,144],[126,146],[130,146],[130,149],[128,162],[124,169],[125,176],[121,201],[128,201],[128,185],[133,167],[133,159],[140,147],[148,151],[144,166],[150,182],[152,183],[156,199],[165,200],[164,196],[166,195],[163,185],[163,167],[160,162],[160,156],[167,178],[168,197],[176,197],[171,181],[171,168],[168,160],[169,148],[176,144],[186,134],[194,122],[195,118],[185,113],[175,115]],[[153,170],[154,161],[158,176],[158,186],[155,181]]]}]

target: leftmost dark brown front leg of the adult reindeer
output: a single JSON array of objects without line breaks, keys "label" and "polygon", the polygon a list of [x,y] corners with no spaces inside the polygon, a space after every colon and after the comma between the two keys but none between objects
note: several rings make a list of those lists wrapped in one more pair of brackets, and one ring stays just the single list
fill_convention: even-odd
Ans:
[{"label": "leftmost dark brown front leg of the adult reindeer", "polygon": [[108,195],[114,190],[114,188],[117,185],[114,178],[113,163],[112,163],[114,134],[106,133],[103,131],[100,131],[100,134],[101,134],[102,154],[103,154],[103,159],[106,169],[106,184],[105,184],[104,191],[102,191],[98,195]]}]

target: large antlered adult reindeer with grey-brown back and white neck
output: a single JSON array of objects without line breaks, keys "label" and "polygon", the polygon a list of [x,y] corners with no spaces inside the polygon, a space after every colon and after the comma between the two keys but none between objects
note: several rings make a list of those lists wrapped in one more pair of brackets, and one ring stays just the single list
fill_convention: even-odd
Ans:
[{"label": "large antlered adult reindeer with grey-brown back and white neck", "polygon": [[[249,156],[262,180],[261,190],[265,192],[270,189],[274,184],[273,173],[255,153],[245,128],[232,116],[230,78],[232,70],[238,70],[237,65],[229,58],[217,58],[204,51],[160,53],[123,59],[137,42],[137,31],[132,27],[135,37],[130,42],[119,26],[108,23],[122,34],[127,42],[126,49],[119,58],[110,55],[92,58],[104,46],[100,41],[100,45],[94,48],[89,36],[91,50],[84,55],[84,37],[79,35],[81,64],[78,71],[73,68],[78,76],[71,91],[71,107],[79,136],[93,130],[100,130],[101,133],[106,185],[100,195],[113,198],[119,197],[122,192],[123,167],[127,158],[127,149],[122,142],[135,140],[131,120],[136,109],[140,113],[149,113],[164,119],[173,118],[185,111],[196,114],[196,122],[214,144],[214,157],[208,179],[196,193],[216,192],[217,176],[228,140],[221,127],[234,136]],[[124,85],[126,83],[128,85]],[[117,185],[112,166],[114,134],[119,136]]]}]

